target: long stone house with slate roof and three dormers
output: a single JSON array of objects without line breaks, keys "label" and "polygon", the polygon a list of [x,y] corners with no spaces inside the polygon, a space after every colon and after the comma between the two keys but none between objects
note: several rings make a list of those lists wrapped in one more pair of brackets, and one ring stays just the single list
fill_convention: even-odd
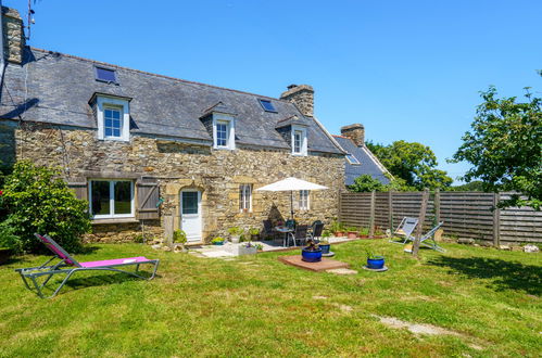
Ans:
[{"label": "long stone house with slate roof and three dormers", "polygon": [[290,176],[329,188],[295,193],[299,221],[338,215],[344,152],[312,87],[275,99],[30,48],[7,8],[1,28],[0,158],[60,168],[89,202],[87,240],[261,228],[286,219],[290,199],[255,189]]}]

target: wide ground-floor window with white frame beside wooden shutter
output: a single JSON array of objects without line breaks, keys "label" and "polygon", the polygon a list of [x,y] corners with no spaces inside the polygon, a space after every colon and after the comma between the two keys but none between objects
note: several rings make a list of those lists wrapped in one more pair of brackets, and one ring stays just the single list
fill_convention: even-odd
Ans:
[{"label": "wide ground-floor window with white frame beside wooden shutter", "polygon": [[91,179],[88,186],[93,219],[134,217],[134,181]]}]

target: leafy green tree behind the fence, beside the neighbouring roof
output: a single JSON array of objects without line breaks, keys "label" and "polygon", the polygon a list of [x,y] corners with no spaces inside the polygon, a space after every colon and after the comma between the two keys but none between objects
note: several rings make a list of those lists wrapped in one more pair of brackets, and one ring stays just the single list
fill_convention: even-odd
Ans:
[{"label": "leafy green tree behind the fence, beside the neighbouring roof", "polygon": [[383,166],[407,187],[416,190],[446,189],[453,182],[444,170],[437,169],[437,156],[427,145],[395,141],[390,145],[366,143]]}]

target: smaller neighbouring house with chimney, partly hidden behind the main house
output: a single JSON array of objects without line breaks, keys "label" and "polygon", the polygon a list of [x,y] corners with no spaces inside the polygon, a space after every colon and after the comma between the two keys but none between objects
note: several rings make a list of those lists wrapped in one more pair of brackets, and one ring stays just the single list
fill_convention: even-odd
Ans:
[{"label": "smaller neighbouring house with chimney, partly hidden behind the main house", "polygon": [[365,127],[353,124],[341,128],[340,136],[333,136],[342,150],[344,158],[344,184],[352,186],[355,178],[366,174],[382,184],[390,183],[393,176],[365,145]]}]

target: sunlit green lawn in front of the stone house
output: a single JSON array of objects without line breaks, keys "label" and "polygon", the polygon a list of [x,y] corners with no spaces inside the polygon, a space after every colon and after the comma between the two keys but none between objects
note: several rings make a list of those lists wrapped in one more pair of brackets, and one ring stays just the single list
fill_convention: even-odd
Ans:
[{"label": "sunlit green lawn in front of the stone house", "polygon": [[[383,240],[335,245],[337,258],[360,270],[336,276],[277,260],[291,252],[226,261],[93,245],[78,258],[147,255],[161,259],[160,276],[84,273],[48,301],[13,272],[46,258],[25,256],[0,267],[0,357],[539,356],[540,255],[444,246],[446,254],[423,251],[417,261]],[[362,270],[366,247],[390,270]],[[374,315],[461,335],[415,335]]]}]

